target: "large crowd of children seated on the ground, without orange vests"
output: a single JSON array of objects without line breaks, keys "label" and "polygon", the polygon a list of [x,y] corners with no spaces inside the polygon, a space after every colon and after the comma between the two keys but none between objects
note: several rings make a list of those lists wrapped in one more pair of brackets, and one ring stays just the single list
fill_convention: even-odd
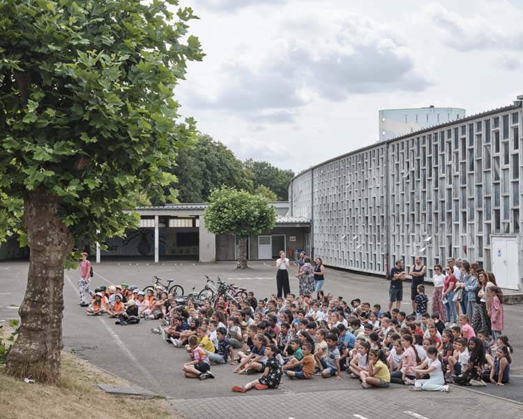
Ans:
[{"label": "large crowd of children seated on the ground, without orange vests", "polygon": [[[214,378],[211,364],[236,365],[235,374],[262,374],[233,390],[277,388],[282,374],[310,379],[343,372],[358,378],[363,388],[386,388],[389,383],[409,390],[449,391],[457,385],[504,385],[510,378],[512,346],[505,335],[492,339],[476,333],[467,315],[460,325],[449,325],[438,314],[416,316],[358,299],[308,295],[256,300],[253,293],[237,302],[209,300],[202,307],[189,301],[181,307],[169,295],[153,300],[148,318],[161,318],[152,332],[167,344],[185,347],[191,362],[189,378]],[[156,307],[156,308],[155,308]],[[238,349],[235,355],[234,349]]]}]

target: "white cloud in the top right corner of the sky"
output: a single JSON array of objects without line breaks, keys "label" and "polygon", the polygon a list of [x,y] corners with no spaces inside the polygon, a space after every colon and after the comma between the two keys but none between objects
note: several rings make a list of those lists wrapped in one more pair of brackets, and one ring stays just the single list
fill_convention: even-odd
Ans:
[{"label": "white cloud in the top right corner of the sky", "polygon": [[[477,7],[470,9],[470,14],[464,16],[439,3],[431,3],[425,8],[425,15],[430,23],[436,25],[444,43],[455,50],[522,50],[521,20],[518,19],[519,24],[509,29],[513,26],[514,14],[523,17],[521,10],[505,1],[495,2],[494,6],[492,10],[486,3],[478,3]],[[482,14],[478,14],[478,8]]]}]

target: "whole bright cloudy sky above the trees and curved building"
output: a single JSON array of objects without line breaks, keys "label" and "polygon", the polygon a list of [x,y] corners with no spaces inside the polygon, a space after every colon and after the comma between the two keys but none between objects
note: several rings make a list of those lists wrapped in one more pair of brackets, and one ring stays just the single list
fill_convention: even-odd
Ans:
[{"label": "whole bright cloudy sky above the trees and curved building", "polygon": [[523,1],[181,0],[206,57],[177,97],[239,159],[295,172],[378,140],[378,110],[523,94]]}]

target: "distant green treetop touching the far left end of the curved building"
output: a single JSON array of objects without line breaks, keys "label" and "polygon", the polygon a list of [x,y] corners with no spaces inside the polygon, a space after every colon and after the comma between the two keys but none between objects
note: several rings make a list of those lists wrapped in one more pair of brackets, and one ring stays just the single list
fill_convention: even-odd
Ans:
[{"label": "distant green treetop touching the far left end of the curved building", "polygon": [[284,170],[273,166],[267,161],[254,161],[249,159],[245,161],[245,168],[252,172],[254,176],[254,187],[260,185],[273,191],[278,200],[289,200],[289,182],[294,177],[292,170]]}]

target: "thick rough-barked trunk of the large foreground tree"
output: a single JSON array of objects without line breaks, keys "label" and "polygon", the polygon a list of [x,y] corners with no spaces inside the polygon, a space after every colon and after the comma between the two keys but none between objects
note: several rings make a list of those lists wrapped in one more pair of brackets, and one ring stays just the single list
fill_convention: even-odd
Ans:
[{"label": "thick rough-barked trunk of the large foreground tree", "polygon": [[18,311],[20,331],[9,353],[6,372],[37,382],[54,383],[60,376],[63,270],[74,240],[58,208],[59,198],[42,188],[32,191],[24,205],[31,256],[24,301]]}]

